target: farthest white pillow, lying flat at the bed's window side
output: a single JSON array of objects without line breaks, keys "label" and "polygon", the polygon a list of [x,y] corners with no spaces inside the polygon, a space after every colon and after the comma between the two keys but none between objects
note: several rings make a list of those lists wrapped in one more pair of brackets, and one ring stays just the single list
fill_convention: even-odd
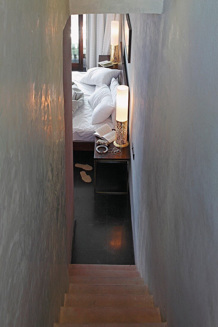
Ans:
[{"label": "farthest white pillow, lying flat at the bed's window side", "polygon": [[81,78],[81,83],[89,85],[110,85],[112,78],[118,78],[120,70],[103,67],[90,68]]}]

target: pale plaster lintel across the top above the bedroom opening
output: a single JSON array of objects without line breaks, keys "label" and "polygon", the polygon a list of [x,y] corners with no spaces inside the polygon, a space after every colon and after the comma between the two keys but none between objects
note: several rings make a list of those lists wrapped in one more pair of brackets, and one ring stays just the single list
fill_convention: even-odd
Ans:
[{"label": "pale plaster lintel across the top above the bedroom opening", "polygon": [[70,14],[146,12],[161,14],[163,0],[69,0]]}]

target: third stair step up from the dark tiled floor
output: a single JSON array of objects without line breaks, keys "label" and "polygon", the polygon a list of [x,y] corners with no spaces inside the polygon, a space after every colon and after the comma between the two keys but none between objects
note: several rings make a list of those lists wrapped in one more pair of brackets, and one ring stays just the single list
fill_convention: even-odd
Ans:
[{"label": "third stair step up from the dark tiled floor", "polygon": [[143,285],[141,277],[94,277],[94,276],[69,276],[71,284],[125,284]]}]

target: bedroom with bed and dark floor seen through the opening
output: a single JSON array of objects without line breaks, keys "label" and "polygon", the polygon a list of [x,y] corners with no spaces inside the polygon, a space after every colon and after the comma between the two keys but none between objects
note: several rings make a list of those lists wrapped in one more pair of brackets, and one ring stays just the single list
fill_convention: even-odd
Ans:
[{"label": "bedroom with bed and dark floor seen through the opening", "polygon": [[126,75],[131,32],[128,14],[71,15],[72,263],[135,262]]}]

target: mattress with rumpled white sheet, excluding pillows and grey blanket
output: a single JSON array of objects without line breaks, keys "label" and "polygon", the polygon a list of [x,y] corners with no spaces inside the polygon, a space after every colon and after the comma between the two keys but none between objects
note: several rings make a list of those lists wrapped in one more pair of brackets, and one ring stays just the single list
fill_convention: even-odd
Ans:
[{"label": "mattress with rumpled white sheet, excluding pillows and grey blanket", "polygon": [[100,124],[91,124],[93,110],[88,103],[88,98],[95,91],[95,85],[81,83],[80,80],[84,74],[86,73],[72,72],[72,81],[75,82],[84,93],[84,103],[73,115],[73,141],[94,142],[95,136],[93,133],[95,133],[95,129],[106,123],[112,129],[115,129],[115,126],[112,123],[111,116]]}]

